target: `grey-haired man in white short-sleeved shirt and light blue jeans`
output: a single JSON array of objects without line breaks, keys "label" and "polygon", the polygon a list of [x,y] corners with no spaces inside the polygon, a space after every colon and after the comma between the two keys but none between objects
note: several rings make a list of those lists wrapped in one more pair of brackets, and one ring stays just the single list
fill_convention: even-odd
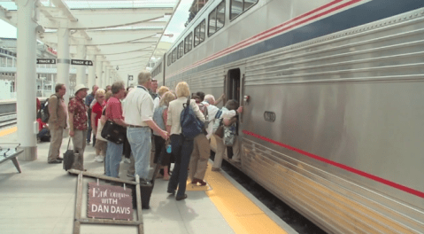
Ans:
[{"label": "grey-haired man in white short-sleeved shirt and light blue jeans", "polygon": [[160,129],[153,121],[153,99],[149,93],[150,83],[151,74],[149,72],[143,71],[138,74],[139,85],[128,93],[124,104],[124,116],[128,124],[127,138],[135,159],[135,174],[140,176],[143,183],[147,183],[149,175],[150,129],[164,139],[168,138],[167,132]]}]

